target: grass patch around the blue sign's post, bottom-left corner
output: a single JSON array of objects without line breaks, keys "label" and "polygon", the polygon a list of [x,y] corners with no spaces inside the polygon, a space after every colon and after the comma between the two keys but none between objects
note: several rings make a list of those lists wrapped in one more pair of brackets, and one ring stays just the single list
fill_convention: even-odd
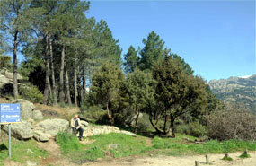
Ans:
[{"label": "grass patch around the blue sign's post, bottom-left corner", "polygon": [[[8,140],[1,141],[0,144],[0,165],[4,165],[4,160],[8,158]],[[45,158],[48,152],[38,148],[34,140],[19,141],[12,139],[12,160],[15,162],[26,163],[40,162],[40,158]]]}]

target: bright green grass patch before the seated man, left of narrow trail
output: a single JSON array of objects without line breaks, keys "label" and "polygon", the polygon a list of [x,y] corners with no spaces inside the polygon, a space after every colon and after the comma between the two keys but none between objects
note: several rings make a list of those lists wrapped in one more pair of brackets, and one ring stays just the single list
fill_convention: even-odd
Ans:
[{"label": "bright green grass patch before the seated man, left of narrow trail", "polygon": [[89,162],[98,158],[124,157],[144,153],[151,149],[146,147],[146,137],[137,138],[130,135],[111,133],[109,135],[95,135],[86,138],[92,144],[81,144],[73,135],[60,133],[57,144],[64,155],[75,162]]}]

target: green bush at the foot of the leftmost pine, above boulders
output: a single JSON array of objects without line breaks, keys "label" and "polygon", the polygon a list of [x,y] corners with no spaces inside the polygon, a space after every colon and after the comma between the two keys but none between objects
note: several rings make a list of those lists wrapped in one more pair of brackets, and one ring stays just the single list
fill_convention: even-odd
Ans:
[{"label": "green bush at the foot of the leftmost pine, above boulders", "polygon": [[43,94],[39,91],[37,86],[27,83],[19,87],[19,93],[22,99],[30,100],[34,103],[40,103],[43,101]]}]

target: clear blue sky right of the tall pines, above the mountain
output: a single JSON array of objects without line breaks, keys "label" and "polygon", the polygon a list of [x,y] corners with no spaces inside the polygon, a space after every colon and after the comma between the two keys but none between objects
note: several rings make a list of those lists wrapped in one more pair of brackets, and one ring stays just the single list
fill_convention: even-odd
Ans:
[{"label": "clear blue sky right of the tall pines, above the mountain", "polygon": [[256,74],[255,1],[93,1],[122,56],[155,31],[207,81]]}]

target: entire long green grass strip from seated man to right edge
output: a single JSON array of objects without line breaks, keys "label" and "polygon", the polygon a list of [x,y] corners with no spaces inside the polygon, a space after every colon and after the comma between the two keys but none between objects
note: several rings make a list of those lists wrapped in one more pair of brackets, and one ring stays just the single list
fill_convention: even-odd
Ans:
[{"label": "entire long green grass strip from seated man to right edge", "polygon": [[[161,138],[155,136],[153,140],[138,135],[122,135],[111,133],[109,135],[95,135],[86,138],[85,142],[91,144],[81,144],[76,137],[59,134],[57,143],[60,145],[64,155],[75,162],[83,163],[99,158],[119,158],[135,154],[165,154],[165,155],[186,155],[203,153],[229,153],[244,151],[245,149],[256,151],[256,143],[230,140],[218,142],[208,141],[205,144],[191,143],[195,137],[189,135],[176,135],[176,138]],[[148,144],[148,141],[152,141]]]}]

